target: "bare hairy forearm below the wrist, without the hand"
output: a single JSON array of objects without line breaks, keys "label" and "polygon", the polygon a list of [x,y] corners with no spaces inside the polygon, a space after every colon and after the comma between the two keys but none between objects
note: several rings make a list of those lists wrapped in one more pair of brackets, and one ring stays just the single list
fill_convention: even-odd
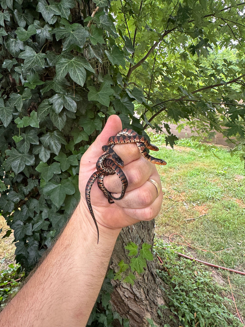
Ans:
[{"label": "bare hairy forearm below the wrist, without the hand", "polygon": [[119,232],[101,227],[97,244],[93,221],[79,204],[51,252],[3,310],[1,323],[85,326]]}]

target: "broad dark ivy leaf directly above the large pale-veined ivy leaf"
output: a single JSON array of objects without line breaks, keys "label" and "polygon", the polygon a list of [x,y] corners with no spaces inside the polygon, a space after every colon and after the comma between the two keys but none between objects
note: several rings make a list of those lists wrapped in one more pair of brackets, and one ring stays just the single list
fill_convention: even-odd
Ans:
[{"label": "broad dark ivy leaf directly above the large pale-veined ivy leaf", "polygon": [[53,30],[56,36],[56,40],[63,40],[63,51],[67,50],[72,45],[78,45],[83,48],[86,38],[90,36],[87,29],[79,24],[72,24],[66,26],[60,26]]}]

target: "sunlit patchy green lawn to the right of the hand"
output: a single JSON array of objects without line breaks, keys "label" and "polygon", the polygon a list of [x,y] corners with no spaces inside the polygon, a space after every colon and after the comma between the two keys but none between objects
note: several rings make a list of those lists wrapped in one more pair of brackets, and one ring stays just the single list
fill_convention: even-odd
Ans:
[{"label": "sunlit patchy green lawn to the right of the hand", "polygon": [[[181,234],[192,247],[201,249],[194,250],[197,258],[244,272],[244,163],[231,157],[225,147],[202,146],[192,140],[181,140],[174,150],[161,146],[157,157],[167,162],[158,168],[164,198],[156,218],[157,235],[168,240],[172,233]],[[172,240],[183,243],[177,235]],[[186,247],[186,253],[189,250]],[[227,272],[218,273],[226,282],[226,296],[230,298]],[[245,276],[229,273],[229,278],[244,317]]]}]

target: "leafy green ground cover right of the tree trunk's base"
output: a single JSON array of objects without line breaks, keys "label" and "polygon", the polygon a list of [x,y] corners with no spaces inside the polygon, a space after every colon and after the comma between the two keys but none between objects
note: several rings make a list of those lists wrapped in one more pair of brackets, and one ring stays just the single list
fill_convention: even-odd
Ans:
[{"label": "leafy green ground cover right of the tree trunk's base", "polygon": [[167,287],[170,310],[180,319],[181,326],[240,326],[230,311],[231,302],[223,296],[223,289],[216,284],[209,271],[189,259],[179,257],[183,248],[156,240],[156,253],[163,261],[159,277]]}]

